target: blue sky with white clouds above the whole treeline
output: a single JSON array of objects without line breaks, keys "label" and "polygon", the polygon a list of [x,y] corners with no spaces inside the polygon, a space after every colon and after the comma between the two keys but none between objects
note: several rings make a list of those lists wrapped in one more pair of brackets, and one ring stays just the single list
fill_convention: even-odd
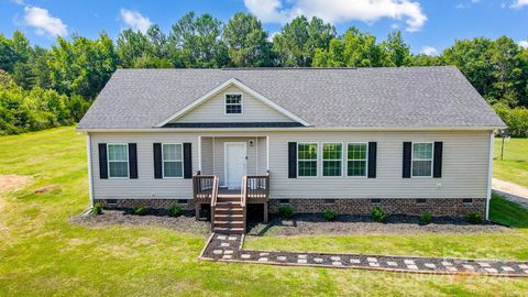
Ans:
[{"label": "blue sky with white clouds above the whole treeline", "polygon": [[43,46],[57,35],[96,37],[105,31],[116,38],[122,29],[152,23],[167,33],[191,10],[224,22],[234,12],[252,12],[270,34],[300,13],[333,23],[338,33],[355,25],[383,40],[402,30],[414,53],[439,53],[457,38],[474,36],[507,35],[528,46],[528,0],[0,0],[0,32],[11,36],[20,30]]}]

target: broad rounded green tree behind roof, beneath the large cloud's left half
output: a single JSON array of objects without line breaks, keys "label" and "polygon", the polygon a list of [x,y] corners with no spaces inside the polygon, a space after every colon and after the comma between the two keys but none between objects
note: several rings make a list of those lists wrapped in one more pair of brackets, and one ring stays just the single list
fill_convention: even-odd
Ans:
[{"label": "broad rounded green tree behind roof, beneath the large cloud's left half", "polygon": [[279,66],[311,66],[316,48],[328,48],[336,28],[314,16],[297,16],[273,37],[273,51]]}]

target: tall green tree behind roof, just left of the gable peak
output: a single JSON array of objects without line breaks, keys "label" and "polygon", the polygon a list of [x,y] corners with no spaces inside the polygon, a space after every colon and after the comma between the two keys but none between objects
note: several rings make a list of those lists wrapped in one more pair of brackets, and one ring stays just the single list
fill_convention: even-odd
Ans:
[{"label": "tall green tree behind roof, just left of the gable peak", "polygon": [[182,16],[169,35],[173,52],[180,51],[186,67],[217,68],[228,65],[228,47],[221,40],[222,23],[210,14],[198,18],[194,12]]}]

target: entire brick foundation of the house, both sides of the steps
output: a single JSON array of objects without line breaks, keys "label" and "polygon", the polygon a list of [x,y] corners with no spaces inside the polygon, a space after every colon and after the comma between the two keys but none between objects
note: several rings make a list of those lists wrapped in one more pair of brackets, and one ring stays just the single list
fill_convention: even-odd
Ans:
[{"label": "entire brick foundation of the house, both sides of the steps", "polygon": [[[166,209],[174,204],[185,210],[195,209],[193,199],[96,199],[105,208],[134,208],[145,206],[153,209]],[[114,204],[112,204],[114,202]],[[277,213],[282,205],[292,205],[296,213],[320,213],[333,210],[338,213],[370,215],[380,206],[389,215],[419,216],[424,211],[432,216],[465,216],[469,211],[486,212],[486,199],[435,198],[435,199],[270,199],[270,213]]]}]

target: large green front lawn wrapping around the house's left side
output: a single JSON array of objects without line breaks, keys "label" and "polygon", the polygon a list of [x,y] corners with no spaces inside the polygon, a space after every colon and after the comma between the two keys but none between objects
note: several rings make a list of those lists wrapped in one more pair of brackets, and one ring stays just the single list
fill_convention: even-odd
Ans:
[{"label": "large green front lawn wrapping around the house's left side", "polygon": [[[163,228],[72,226],[68,217],[89,205],[84,141],[73,128],[0,138],[0,174],[30,175],[34,182],[3,195],[0,202],[0,296],[521,296],[528,290],[526,279],[202,262],[197,257],[206,238],[196,234]],[[35,194],[51,185],[51,191]],[[526,213],[505,205],[512,211],[496,217],[516,222],[518,230],[502,234],[502,241],[498,235],[475,235],[466,241],[473,240],[492,256],[527,258],[522,250],[528,250],[528,238],[519,223]],[[388,243],[376,239],[321,238],[334,249],[341,242],[363,244],[343,245],[349,252],[386,252],[381,246]],[[414,249],[405,248],[410,244],[407,240],[389,241],[394,249],[402,246],[411,254],[435,254],[435,245],[442,244],[461,254],[468,252],[454,242],[461,238],[416,239],[420,242]],[[282,243],[297,244],[296,240]],[[324,248],[311,244],[310,249]]]}]

